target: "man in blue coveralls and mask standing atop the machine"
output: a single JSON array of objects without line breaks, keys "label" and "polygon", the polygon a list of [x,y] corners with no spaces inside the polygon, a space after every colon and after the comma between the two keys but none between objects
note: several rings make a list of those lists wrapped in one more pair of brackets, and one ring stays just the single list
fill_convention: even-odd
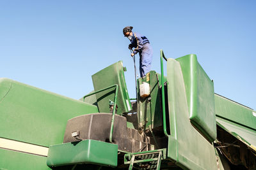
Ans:
[{"label": "man in blue coveralls and mask standing atop the machine", "polygon": [[138,34],[137,32],[132,32],[131,26],[124,27],[123,33],[124,36],[127,37],[131,44],[129,44],[129,49],[132,50],[131,56],[135,55],[136,53],[140,54],[140,76],[143,77],[150,71],[151,61],[153,50],[149,44],[147,37]]}]

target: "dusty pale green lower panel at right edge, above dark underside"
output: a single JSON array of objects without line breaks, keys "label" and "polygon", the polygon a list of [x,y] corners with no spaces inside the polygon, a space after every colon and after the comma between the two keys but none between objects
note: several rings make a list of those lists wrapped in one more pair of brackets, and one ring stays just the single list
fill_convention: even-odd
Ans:
[{"label": "dusty pale green lower panel at right edge, above dark underside", "polygon": [[256,131],[243,125],[230,122],[224,118],[216,118],[217,124],[220,125],[225,131],[232,134],[234,137],[242,141],[245,145],[249,146],[256,151]]}]

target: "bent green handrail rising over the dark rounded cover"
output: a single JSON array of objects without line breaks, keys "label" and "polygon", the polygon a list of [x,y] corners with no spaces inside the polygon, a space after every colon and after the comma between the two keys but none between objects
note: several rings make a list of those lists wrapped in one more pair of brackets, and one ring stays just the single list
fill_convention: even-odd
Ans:
[{"label": "bent green handrail rising over the dark rounded cover", "polygon": [[92,93],[90,93],[90,94],[87,94],[86,96],[83,97],[83,102],[84,102],[85,97],[92,96],[93,94],[97,94],[97,93],[102,92],[102,91],[104,91],[104,90],[111,89],[112,87],[116,87],[116,91],[115,91],[113,115],[112,115],[112,119],[111,119],[111,128],[110,128],[110,133],[109,133],[109,141],[110,141],[111,143],[113,143],[113,141],[112,141],[112,136],[113,136],[113,128],[114,128],[114,122],[115,122],[116,98],[117,98],[117,92],[118,92],[118,85],[117,85],[117,84],[111,85],[111,86],[106,87],[106,88],[104,88],[104,89],[100,89],[100,90],[97,90],[96,92],[92,92]]}]

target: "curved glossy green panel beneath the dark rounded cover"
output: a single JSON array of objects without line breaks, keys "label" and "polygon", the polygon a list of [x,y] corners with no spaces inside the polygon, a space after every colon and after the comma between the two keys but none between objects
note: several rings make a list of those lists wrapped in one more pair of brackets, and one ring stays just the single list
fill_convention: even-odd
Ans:
[{"label": "curved glossy green panel beneath the dark rounded cover", "polygon": [[63,143],[49,147],[47,166],[100,164],[117,166],[118,145],[95,140]]}]

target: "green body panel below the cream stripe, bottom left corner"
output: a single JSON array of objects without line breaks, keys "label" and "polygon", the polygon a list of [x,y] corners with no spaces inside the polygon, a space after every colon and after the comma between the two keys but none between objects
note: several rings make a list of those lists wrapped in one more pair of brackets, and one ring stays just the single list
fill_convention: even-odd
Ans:
[{"label": "green body panel below the cream stripe, bottom left corner", "polygon": [[46,157],[14,152],[0,148],[0,169],[2,170],[51,170],[46,166]]}]

